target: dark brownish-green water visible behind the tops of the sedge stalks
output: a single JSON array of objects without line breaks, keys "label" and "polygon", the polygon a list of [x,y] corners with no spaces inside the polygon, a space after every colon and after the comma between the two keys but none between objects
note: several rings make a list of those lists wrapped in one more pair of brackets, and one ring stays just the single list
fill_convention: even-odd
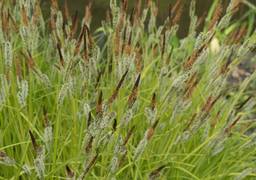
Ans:
[{"label": "dark brownish-green water visible behind the tops of the sedge stalks", "polygon": [[[255,4],[255,0],[249,0],[251,3]],[[46,2],[45,7],[42,9],[42,13],[44,16],[44,19],[48,19],[50,17],[50,5],[51,5],[51,0],[41,0],[41,5]],[[109,0],[93,0],[92,7],[91,7],[91,13],[92,13],[92,23],[90,25],[90,31],[94,32],[97,28],[101,27],[101,21],[106,19],[106,7],[107,4],[109,3]],[[131,12],[131,9],[134,6],[134,3],[138,2],[138,0],[129,0],[128,1],[128,9],[127,9],[127,14]],[[156,0],[154,0],[156,2]],[[169,14],[169,0],[159,0],[158,3],[158,15],[156,19],[156,26],[158,27],[159,25],[162,25],[165,21],[165,19],[168,17]],[[175,5],[177,0],[172,0],[172,6]],[[205,11],[208,11],[212,5],[214,0],[196,0],[196,15],[201,17]],[[229,0],[222,0],[221,4],[223,4],[223,12],[222,14],[224,15],[226,12],[226,8],[229,4]],[[71,14],[71,18],[73,19],[74,14],[76,10],[78,10],[78,17],[79,17],[79,24],[78,28],[81,27],[81,20],[85,16],[85,8],[86,5],[88,5],[89,0],[67,0],[68,8],[69,8],[69,14]],[[117,4],[119,5],[121,3],[121,0],[117,0]],[[173,13],[173,17],[175,16],[177,10],[179,9],[181,4],[184,4],[184,8],[182,11],[182,14],[180,16],[180,19],[178,21],[179,24],[179,30],[177,32],[177,36],[179,38],[184,38],[188,34],[188,28],[189,28],[189,23],[190,23],[190,18],[189,18],[189,6],[190,6],[190,0],[181,0],[180,4],[178,5],[177,9]],[[141,13],[142,13],[142,8],[144,7],[145,0],[142,0],[141,3]],[[65,18],[65,1],[64,0],[58,0],[58,5],[62,7],[62,14],[64,16],[64,21],[66,21]],[[110,8],[109,8],[110,9]],[[240,3],[239,5],[239,11],[233,16],[232,20],[240,18],[249,8]],[[222,16],[221,16],[222,17]],[[220,17],[220,18],[221,18]],[[147,19],[150,18],[150,11],[148,11],[147,14]],[[147,24],[148,21],[146,21]],[[254,20],[254,29],[256,26],[256,22]],[[145,26],[147,27],[147,25]],[[197,33],[203,30],[204,27],[204,22],[200,24],[200,27],[197,29]],[[254,30],[253,29],[253,30]],[[79,32],[80,29],[78,29],[77,32]]]}]

